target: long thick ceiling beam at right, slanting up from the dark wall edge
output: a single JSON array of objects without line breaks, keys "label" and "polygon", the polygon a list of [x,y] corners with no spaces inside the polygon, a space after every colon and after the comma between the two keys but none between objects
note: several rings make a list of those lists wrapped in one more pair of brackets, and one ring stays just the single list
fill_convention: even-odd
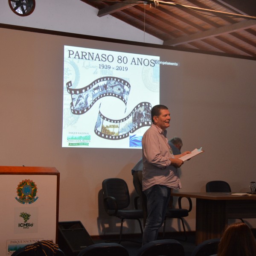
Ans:
[{"label": "long thick ceiling beam at right, slanting up from the dark wall edge", "polygon": [[256,26],[256,20],[245,20],[239,23],[230,24],[230,25],[219,27],[216,29],[210,29],[204,32],[199,32],[193,35],[166,40],[163,42],[163,45],[177,46],[179,44],[187,44],[193,41],[198,41],[206,38],[216,37],[219,35],[229,34],[230,32],[249,29],[253,26]]}]

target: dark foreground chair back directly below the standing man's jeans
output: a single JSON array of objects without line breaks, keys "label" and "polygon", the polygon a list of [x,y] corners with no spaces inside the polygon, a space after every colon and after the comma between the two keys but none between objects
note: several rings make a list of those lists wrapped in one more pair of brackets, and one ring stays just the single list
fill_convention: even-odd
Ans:
[{"label": "dark foreground chair back directly below the standing man's jeans", "polygon": [[137,253],[137,256],[184,256],[185,251],[179,241],[175,239],[163,239],[149,242]]}]

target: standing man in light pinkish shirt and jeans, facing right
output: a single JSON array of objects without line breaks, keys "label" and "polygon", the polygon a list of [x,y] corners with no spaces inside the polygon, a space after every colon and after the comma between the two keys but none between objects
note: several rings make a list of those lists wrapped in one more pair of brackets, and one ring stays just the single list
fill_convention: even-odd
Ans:
[{"label": "standing man in light pinkish shirt and jeans, facing right", "polygon": [[166,128],[170,126],[170,112],[164,105],[151,109],[151,127],[142,139],[143,150],[143,191],[147,197],[148,217],[146,220],[143,245],[157,240],[158,230],[163,225],[171,189],[180,189],[177,168],[183,161],[179,157],[191,153],[173,155],[168,144]]}]

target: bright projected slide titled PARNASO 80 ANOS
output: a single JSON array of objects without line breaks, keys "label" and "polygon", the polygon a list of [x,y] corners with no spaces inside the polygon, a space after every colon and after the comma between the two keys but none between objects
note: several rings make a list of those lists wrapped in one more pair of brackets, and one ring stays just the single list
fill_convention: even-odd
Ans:
[{"label": "bright projected slide titled PARNASO 80 ANOS", "polygon": [[159,56],[64,46],[63,147],[141,148]]}]

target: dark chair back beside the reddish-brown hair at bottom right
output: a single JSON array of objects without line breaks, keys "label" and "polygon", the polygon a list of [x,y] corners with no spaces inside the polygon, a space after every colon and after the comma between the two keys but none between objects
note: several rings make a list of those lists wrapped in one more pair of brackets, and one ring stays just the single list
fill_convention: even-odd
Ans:
[{"label": "dark chair back beside the reddish-brown hair at bottom right", "polygon": [[192,251],[191,256],[211,256],[217,254],[220,238],[209,239],[198,244]]}]

